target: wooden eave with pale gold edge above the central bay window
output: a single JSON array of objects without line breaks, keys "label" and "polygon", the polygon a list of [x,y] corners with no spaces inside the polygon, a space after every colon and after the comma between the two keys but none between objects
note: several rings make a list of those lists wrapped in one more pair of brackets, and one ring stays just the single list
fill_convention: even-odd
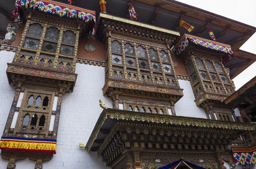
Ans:
[{"label": "wooden eave with pale gold edge above the central bay window", "polygon": [[[100,40],[106,38],[105,29],[111,29],[112,33],[123,34],[147,41],[168,43],[169,46],[172,46],[174,41],[180,36],[180,33],[176,31],[104,13],[99,14],[96,27],[98,28],[96,35]],[[107,36],[111,35],[107,34]]]}]

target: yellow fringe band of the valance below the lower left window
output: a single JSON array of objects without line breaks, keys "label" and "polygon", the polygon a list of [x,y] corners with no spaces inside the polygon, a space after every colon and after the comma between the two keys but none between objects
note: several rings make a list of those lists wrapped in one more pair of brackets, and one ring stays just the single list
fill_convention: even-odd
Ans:
[{"label": "yellow fringe band of the valance below the lower left window", "polygon": [[53,150],[56,151],[54,143],[28,143],[14,141],[0,141],[1,148],[9,149],[31,149],[31,150]]}]

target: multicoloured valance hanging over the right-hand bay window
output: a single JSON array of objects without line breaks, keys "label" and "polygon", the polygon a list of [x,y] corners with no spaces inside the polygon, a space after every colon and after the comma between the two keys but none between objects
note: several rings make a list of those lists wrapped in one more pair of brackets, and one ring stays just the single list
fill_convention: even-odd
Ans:
[{"label": "multicoloured valance hanging over the right-hand bay window", "polygon": [[218,43],[212,40],[207,40],[201,37],[196,37],[189,34],[184,34],[178,43],[175,45],[175,50],[177,55],[180,55],[184,50],[190,45],[190,43],[194,43],[196,45],[203,46],[208,49],[213,49],[216,51],[224,52],[226,55],[222,58],[223,62],[226,64],[231,58],[235,55],[235,52],[231,49],[230,45],[226,45],[224,43]]}]

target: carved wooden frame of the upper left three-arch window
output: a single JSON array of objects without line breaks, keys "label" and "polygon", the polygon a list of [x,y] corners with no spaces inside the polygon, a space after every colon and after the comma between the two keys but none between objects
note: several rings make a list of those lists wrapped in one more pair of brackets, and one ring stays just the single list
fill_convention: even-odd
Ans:
[{"label": "carved wooden frame of the upper left three-arch window", "polygon": [[[28,35],[29,27],[33,24],[40,24],[43,27],[43,32],[40,37],[32,37]],[[47,29],[51,27],[55,27],[60,32],[58,35],[58,41],[50,40],[49,38],[48,39],[44,38],[47,32]],[[66,31],[71,31],[75,34],[76,36],[75,44],[62,43],[62,36],[63,36],[63,33]],[[38,48],[37,49],[25,48],[24,43],[26,38],[39,40]],[[27,23],[23,30],[23,34],[21,36],[20,43],[18,45],[18,49],[13,61],[23,63],[23,64],[37,65],[37,66],[41,66],[41,67],[52,69],[52,70],[57,68],[64,72],[74,73],[76,68],[76,56],[78,52],[78,40],[79,40],[79,31],[76,29],[76,27],[75,28],[67,27],[62,23],[61,24],[50,23],[50,22],[45,23],[43,20],[41,20],[40,17],[32,16],[31,18],[29,18],[29,20],[27,20]],[[54,43],[57,46],[55,52],[42,51],[45,42]],[[70,55],[60,54],[62,45],[72,47],[73,54],[70,54]],[[28,52],[30,53],[32,52],[32,53],[29,54]],[[27,55],[20,54],[20,53],[26,53]],[[49,56],[52,56],[54,59],[41,57],[41,54],[47,54]],[[23,57],[23,55],[25,58]],[[61,63],[61,61],[58,60],[59,56],[71,58],[72,62],[67,62],[67,63],[64,63],[64,66],[59,66],[59,63]],[[28,60],[29,58],[32,58],[32,59]],[[51,61],[48,63],[49,60]]]}]

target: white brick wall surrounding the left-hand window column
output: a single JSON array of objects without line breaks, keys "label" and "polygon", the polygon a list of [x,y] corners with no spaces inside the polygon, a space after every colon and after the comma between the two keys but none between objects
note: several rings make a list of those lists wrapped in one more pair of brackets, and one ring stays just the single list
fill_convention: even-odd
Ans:
[{"label": "white brick wall surrounding the left-hand window column", "polygon": [[[6,77],[7,63],[11,63],[15,52],[0,51],[0,136],[6,124],[15,89]],[[73,92],[66,93],[61,103],[58,127],[57,152],[52,160],[43,162],[44,169],[111,169],[106,167],[97,152],[87,152],[80,148],[79,142],[87,143],[99,118],[102,108],[99,99],[112,108],[110,98],[103,96],[105,68],[77,63],[78,78]],[[1,150],[0,150],[1,151]],[[0,169],[6,169],[8,160],[0,158]],[[34,169],[35,161],[17,160],[16,169]]]}]

